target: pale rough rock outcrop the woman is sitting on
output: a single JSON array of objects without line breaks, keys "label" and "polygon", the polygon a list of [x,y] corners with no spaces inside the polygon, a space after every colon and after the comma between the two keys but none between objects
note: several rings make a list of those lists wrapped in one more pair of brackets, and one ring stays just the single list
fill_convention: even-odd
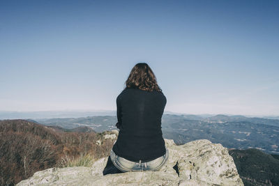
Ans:
[{"label": "pale rough rock outcrop the woman is sitting on", "polygon": [[91,167],[38,171],[17,185],[243,185],[227,148],[206,139],[176,146],[165,139],[169,161],[161,171],[107,174],[107,158]]}]

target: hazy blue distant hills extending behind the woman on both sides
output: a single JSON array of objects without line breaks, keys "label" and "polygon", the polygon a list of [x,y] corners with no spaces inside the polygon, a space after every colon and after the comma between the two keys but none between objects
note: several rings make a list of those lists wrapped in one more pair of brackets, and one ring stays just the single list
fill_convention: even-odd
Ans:
[{"label": "hazy blue distant hills extending behind the woman on both sides", "polygon": [[[61,126],[67,129],[84,126],[96,132],[104,132],[116,130],[117,119],[116,116],[91,116],[37,121],[44,125]],[[186,144],[196,139],[209,139],[227,148],[257,148],[274,154],[279,154],[277,125],[278,120],[245,116],[218,115],[201,119],[195,115],[164,114],[162,118],[163,137],[174,139],[176,144]]]}]

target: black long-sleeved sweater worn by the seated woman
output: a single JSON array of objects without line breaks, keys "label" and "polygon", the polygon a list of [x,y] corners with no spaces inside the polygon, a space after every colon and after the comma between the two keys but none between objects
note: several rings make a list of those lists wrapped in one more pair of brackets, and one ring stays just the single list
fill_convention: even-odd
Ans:
[{"label": "black long-sleeved sweater worn by the seated woman", "polygon": [[154,160],[165,154],[161,118],[167,99],[158,91],[126,88],[116,98],[119,137],[114,153],[127,160]]}]

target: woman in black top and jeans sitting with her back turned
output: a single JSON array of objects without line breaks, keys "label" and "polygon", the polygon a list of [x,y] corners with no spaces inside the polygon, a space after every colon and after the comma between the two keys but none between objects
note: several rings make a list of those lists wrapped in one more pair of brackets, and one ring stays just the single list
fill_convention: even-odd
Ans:
[{"label": "woman in black top and jeans sitting with her back turned", "polygon": [[158,171],[167,162],[161,118],[167,100],[146,63],[137,63],[116,98],[119,137],[110,158],[120,171]]}]

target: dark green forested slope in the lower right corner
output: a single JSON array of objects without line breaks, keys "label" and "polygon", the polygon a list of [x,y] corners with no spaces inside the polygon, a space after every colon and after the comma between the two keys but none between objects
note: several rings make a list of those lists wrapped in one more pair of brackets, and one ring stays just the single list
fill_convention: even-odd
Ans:
[{"label": "dark green forested slope in the lower right corner", "polygon": [[279,185],[279,160],[257,149],[229,150],[246,186]]}]

